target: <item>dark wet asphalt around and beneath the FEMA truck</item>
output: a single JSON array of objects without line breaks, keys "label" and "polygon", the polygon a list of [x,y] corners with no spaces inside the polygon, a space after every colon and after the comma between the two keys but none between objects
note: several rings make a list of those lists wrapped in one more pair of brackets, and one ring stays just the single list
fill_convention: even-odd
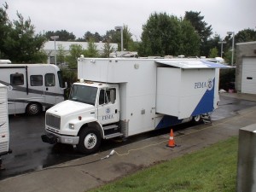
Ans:
[{"label": "dark wet asphalt around and beneath the FEMA truck", "polygon": [[[224,96],[221,96],[220,99],[219,108],[212,113],[213,121],[234,116],[238,110],[256,106],[256,102]],[[189,126],[192,125],[178,125],[176,129],[185,129]],[[21,114],[16,116],[10,115],[9,128],[10,148],[13,150],[13,153],[3,156],[4,169],[0,171],[0,180],[84,156],[84,154],[79,154],[73,146],[64,144],[49,145],[41,141],[41,135],[44,134],[44,113],[36,117]],[[135,137],[129,137],[125,142],[120,142],[119,140],[104,141],[101,151],[134,143],[148,137],[166,134],[167,132],[169,132],[168,129],[150,131]]]}]

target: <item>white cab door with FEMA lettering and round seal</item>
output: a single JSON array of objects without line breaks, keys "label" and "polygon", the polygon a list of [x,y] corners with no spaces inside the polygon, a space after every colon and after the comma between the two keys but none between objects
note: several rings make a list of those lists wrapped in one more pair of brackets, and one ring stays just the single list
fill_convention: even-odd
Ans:
[{"label": "white cab door with FEMA lettering and round seal", "polygon": [[[113,101],[110,101],[110,96]],[[98,98],[97,118],[102,125],[111,124],[119,121],[119,102],[116,88],[101,89]]]}]

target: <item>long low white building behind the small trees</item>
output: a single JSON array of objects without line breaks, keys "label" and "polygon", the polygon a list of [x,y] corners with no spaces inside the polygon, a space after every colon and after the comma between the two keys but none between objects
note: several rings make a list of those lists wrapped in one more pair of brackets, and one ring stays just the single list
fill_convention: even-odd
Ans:
[{"label": "long low white building behind the small trees", "polygon": [[[58,47],[61,45],[61,47],[64,49],[65,54],[69,55],[69,48],[72,44],[78,44],[81,45],[83,49],[88,49],[88,42],[71,42],[71,41],[48,41],[44,44],[43,50],[46,52],[46,54],[49,57],[49,63],[55,63],[55,55],[57,54]],[[100,55],[104,53],[104,44],[105,43],[95,43],[96,49]],[[118,49],[118,44],[110,44],[110,46],[114,49]]]}]

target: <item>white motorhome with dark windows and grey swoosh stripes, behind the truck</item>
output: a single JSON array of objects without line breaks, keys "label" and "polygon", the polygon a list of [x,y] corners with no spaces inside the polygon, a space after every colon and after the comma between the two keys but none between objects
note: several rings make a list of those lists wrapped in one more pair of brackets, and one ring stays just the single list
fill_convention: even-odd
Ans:
[{"label": "white motorhome with dark windows and grey swoosh stripes, behind the truck", "polygon": [[59,67],[50,64],[0,64],[0,83],[8,86],[9,114],[37,115],[64,101]]}]

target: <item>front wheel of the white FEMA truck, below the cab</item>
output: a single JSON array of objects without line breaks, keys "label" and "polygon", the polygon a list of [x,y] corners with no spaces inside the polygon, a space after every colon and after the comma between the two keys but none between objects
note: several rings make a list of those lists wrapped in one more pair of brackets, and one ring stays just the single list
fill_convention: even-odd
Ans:
[{"label": "front wheel of the white FEMA truck, below the cab", "polygon": [[91,154],[96,152],[102,143],[100,131],[93,127],[85,128],[79,134],[79,144],[77,148],[83,154]]}]

